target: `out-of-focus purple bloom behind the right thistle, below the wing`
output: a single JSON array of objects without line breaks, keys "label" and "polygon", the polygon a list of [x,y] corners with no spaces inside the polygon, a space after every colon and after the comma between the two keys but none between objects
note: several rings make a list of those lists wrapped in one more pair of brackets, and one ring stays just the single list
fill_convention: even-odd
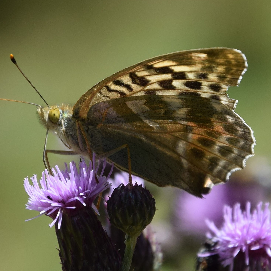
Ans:
[{"label": "out-of-focus purple bloom behind the right thistle, below the wing", "polygon": [[233,205],[240,202],[244,209],[250,201],[253,207],[264,198],[264,189],[257,182],[231,180],[230,182],[214,186],[204,199],[196,198],[180,191],[176,198],[174,210],[174,225],[178,231],[186,234],[202,235],[208,229],[204,223],[208,218],[216,225],[222,224],[222,211],[225,204]]}]

